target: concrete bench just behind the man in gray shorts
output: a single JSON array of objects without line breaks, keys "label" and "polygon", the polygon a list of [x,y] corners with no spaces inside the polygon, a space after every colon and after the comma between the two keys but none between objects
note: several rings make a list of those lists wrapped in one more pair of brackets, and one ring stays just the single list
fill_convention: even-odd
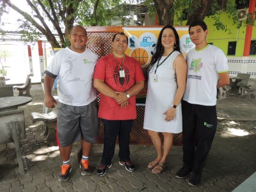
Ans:
[{"label": "concrete bench just behind the man in gray shorts", "polygon": [[48,145],[56,143],[56,122],[57,122],[57,107],[50,113],[31,113],[31,120],[35,122],[44,122],[46,141]]}]

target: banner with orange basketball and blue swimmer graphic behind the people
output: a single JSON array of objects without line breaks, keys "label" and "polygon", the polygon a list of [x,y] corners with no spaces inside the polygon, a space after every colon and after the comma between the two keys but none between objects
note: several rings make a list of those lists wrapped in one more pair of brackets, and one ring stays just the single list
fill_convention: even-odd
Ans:
[{"label": "banner with orange basketball and blue swimmer graphic behind the people", "polygon": [[[125,35],[128,36],[128,48],[126,49],[125,54],[138,60],[143,70],[147,68],[151,61],[155,52],[157,38],[162,28],[163,26],[150,28],[123,28]],[[186,57],[186,54],[195,47],[190,40],[188,27],[175,26],[175,29],[180,37],[180,49],[184,54],[184,57]],[[146,94],[147,88],[144,88],[137,95],[137,98],[145,98]]]}]

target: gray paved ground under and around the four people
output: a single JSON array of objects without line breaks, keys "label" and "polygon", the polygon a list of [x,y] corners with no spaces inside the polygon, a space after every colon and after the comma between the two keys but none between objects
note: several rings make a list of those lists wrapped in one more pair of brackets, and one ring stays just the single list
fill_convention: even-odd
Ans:
[{"label": "gray paved ground under and around the four people", "polygon": [[228,99],[218,101],[218,131],[199,186],[189,186],[188,177],[175,177],[182,166],[180,146],[173,146],[164,172],[152,174],[147,168],[148,162],[156,157],[152,145],[131,145],[131,159],[137,168],[132,173],[118,164],[116,148],[113,167],[104,177],[99,177],[96,168],[102,145],[93,145],[90,156],[92,175],[82,176],[76,159],[79,148],[76,143],[70,159],[70,179],[59,182],[61,159],[58,147],[47,146],[42,136],[44,124],[32,124],[30,120],[31,112],[42,112],[44,93],[40,84],[33,85],[31,95],[33,101],[21,107],[25,111],[27,136],[20,146],[28,171],[20,176],[15,149],[12,145],[0,145],[0,191],[232,191],[256,171],[256,99],[228,96]]}]

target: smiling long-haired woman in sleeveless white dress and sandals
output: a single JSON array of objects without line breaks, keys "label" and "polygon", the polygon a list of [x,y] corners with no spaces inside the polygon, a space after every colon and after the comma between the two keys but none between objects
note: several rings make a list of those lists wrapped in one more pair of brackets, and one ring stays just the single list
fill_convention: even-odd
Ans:
[{"label": "smiling long-haired woman in sleeveless white dress and sandals", "polygon": [[[173,26],[160,31],[156,52],[148,66],[148,91],[144,129],[156,148],[157,157],[148,164],[161,173],[172,148],[173,133],[182,132],[180,100],[186,88],[187,65],[180,52],[179,35]],[[163,134],[163,149],[159,132]]]}]

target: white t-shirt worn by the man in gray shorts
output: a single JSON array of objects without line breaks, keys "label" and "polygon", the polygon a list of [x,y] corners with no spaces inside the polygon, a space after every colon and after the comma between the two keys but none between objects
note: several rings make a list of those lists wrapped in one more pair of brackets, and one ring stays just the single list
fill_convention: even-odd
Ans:
[{"label": "white t-shirt worn by the man in gray shorts", "polygon": [[86,49],[82,53],[68,47],[58,51],[47,68],[58,76],[59,101],[70,106],[86,106],[96,99],[93,72],[98,56]]}]

